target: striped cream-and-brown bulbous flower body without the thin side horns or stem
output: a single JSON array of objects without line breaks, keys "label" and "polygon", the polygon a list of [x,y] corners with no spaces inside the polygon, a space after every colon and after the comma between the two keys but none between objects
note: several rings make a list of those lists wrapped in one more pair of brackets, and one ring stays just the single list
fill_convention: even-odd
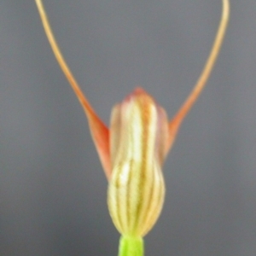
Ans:
[{"label": "striped cream-and-brown bulbous flower body without the thin side horns or stem", "polygon": [[113,108],[108,209],[125,236],[145,236],[160,215],[167,142],[166,112],[144,90],[134,90]]}]

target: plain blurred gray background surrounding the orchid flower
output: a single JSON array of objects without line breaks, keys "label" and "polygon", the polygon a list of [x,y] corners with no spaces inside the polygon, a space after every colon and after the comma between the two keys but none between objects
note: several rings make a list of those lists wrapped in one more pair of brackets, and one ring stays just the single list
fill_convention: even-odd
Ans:
[{"label": "plain blurred gray background surrounding the orchid flower", "polygon": [[[231,0],[224,46],[164,166],[146,256],[256,254],[256,3]],[[212,45],[220,0],[45,0],[63,54],[108,124],[141,84],[176,113]],[[117,255],[107,180],[35,3],[0,2],[0,254]]]}]

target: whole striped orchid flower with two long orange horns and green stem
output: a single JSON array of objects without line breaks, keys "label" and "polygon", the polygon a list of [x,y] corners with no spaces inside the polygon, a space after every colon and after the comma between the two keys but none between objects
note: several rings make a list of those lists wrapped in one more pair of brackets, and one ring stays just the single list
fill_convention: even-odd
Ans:
[{"label": "whole striped orchid flower with two long orange horns and green stem", "polygon": [[159,218],[165,183],[162,166],[177,131],[207,83],[218,57],[229,20],[229,0],[205,67],[187,100],[169,121],[166,111],[142,88],[136,88],[113,107],[110,127],[98,117],[61,55],[41,0],[35,0],[44,30],[63,73],[89,122],[103,170],[108,178],[108,209],[119,230],[119,256],[143,256],[143,236]]}]

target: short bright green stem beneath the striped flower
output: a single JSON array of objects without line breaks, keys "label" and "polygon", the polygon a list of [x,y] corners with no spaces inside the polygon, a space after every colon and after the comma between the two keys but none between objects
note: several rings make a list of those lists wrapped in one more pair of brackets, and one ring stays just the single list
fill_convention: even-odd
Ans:
[{"label": "short bright green stem beneath the striped flower", "polygon": [[143,238],[137,236],[121,236],[119,241],[119,256],[143,256]]}]

